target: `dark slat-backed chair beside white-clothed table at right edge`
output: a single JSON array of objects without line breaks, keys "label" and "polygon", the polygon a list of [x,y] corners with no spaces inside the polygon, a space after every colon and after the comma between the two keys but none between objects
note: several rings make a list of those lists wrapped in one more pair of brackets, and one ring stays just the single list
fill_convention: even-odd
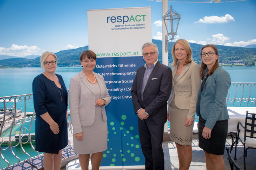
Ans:
[{"label": "dark slat-backed chair beside white-clothed table at right edge", "polygon": [[[246,170],[245,158],[248,149],[256,149],[256,113],[248,113],[246,111],[245,124],[241,122],[237,124],[238,139],[244,145],[244,170]],[[240,129],[241,125],[241,129]],[[237,140],[238,140],[237,139]],[[236,142],[237,145],[237,142]],[[236,150],[236,149],[235,149]]]}]

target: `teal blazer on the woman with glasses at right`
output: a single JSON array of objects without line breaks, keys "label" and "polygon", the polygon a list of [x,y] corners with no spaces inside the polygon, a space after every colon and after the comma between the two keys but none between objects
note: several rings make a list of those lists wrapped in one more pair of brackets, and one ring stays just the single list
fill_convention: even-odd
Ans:
[{"label": "teal blazer on the woman with glasses at right", "polygon": [[206,127],[212,129],[216,121],[229,119],[226,96],[230,84],[231,79],[228,72],[218,67],[207,78],[203,91],[201,88],[199,89],[196,115],[200,114],[202,119],[206,120],[204,124]]}]

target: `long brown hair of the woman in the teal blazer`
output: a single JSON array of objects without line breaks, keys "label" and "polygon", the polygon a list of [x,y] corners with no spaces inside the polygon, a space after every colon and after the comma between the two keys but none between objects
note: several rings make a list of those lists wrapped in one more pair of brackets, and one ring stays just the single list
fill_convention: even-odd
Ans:
[{"label": "long brown hair of the woman in the teal blazer", "polygon": [[[214,49],[214,52],[219,55],[218,53],[218,49],[217,47],[214,45],[214,44],[207,44],[207,45],[204,45],[201,49],[201,53],[203,51],[204,48],[206,47],[212,47]],[[212,66],[211,70],[209,70],[206,74],[206,77],[210,76],[217,68],[219,67],[219,57],[218,59],[216,60],[215,64]],[[201,66],[200,66],[200,76],[201,76],[201,79],[203,80],[204,79],[204,73],[206,71],[206,68],[207,68],[207,65],[203,63],[202,61],[202,58],[201,58]]]}]

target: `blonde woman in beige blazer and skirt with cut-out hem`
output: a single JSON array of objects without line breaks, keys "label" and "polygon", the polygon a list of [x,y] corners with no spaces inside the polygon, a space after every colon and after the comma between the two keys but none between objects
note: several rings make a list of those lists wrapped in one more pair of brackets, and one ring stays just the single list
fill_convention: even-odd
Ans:
[{"label": "blonde woman in beige blazer and skirt with cut-out hem", "polygon": [[168,100],[170,139],[178,152],[179,169],[188,170],[192,160],[192,131],[200,86],[200,68],[192,61],[188,41],[177,40],[172,47],[172,92]]}]

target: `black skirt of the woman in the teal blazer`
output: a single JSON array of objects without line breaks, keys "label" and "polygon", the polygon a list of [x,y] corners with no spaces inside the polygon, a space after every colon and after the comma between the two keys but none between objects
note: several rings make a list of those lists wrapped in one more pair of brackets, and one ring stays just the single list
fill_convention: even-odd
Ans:
[{"label": "black skirt of the woman in the teal blazer", "polygon": [[228,120],[216,121],[212,128],[211,138],[204,139],[202,132],[204,129],[205,120],[199,117],[198,121],[198,139],[199,147],[206,152],[216,155],[222,155],[225,151],[226,137],[228,133]]}]

